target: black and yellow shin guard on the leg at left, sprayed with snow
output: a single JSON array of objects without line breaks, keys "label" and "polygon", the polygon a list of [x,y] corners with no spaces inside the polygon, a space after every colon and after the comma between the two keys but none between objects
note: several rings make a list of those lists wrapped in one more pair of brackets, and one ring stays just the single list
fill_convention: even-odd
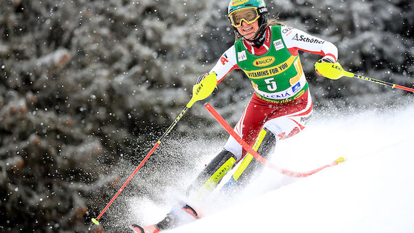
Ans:
[{"label": "black and yellow shin guard on the leg at left, sprayed with snow", "polygon": [[197,198],[202,198],[214,190],[222,178],[235,166],[236,159],[237,157],[227,150],[218,153],[189,186],[187,196],[194,195],[196,191]]}]

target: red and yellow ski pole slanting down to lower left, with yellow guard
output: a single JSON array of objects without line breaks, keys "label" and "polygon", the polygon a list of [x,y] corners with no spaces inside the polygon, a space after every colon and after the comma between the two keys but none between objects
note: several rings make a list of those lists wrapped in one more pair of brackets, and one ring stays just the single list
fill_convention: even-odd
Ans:
[{"label": "red and yellow ski pole slanting down to lower left, with yellow guard", "polygon": [[187,110],[190,109],[192,107],[192,105],[195,102],[197,102],[198,100],[204,100],[205,98],[207,98],[211,94],[211,92],[214,91],[214,88],[216,88],[216,85],[217,85],[216,76],[215,75],[211,75],[211,76],[205,77],[200,83],[198,83],[197,85],[194,85],[193,86],[192,99],[189,100],[188,104],[185,106],[185,108],[183,109],[183,111],[181,111],[181,113],[179,114],[179,116],[174,120],[174,122],[172,122],[172,124],[170,125],[170,127],[168,127],[168,129],[165,131],[165,133],[159,138],[158,142],[154,145],[154,147],[152,147],[152,149],[148,153],[148,155],[146,155],[146,157],[144,157],[142,159],[141,163],[139,163],[139,165],[137,166],[137,168],[135,168],[134,172],[128,177],[128,179],[125,181],[124,185],[122,185],[122,187],[119,188],[119,190],[115,194],[115,196],[113,196],[113,198],[111,199],[111,201],[109,201],[109,203],[105,206],[104,210],[102,210],[102,212],[96,217],[96,219],[91,219],[92,223],[91,223],[91,226],[89,227],[89,230],[91,230],[91,228],[93,227],[93,224],[100,225],[100,223],[99,223],[98,220],[102,217],[102,215],[104,214],[104,212],[109,208],[109,206],[111,206],[111,204],[113,203],[113,201],[115,201],[115,199],[118,197],[119,193],[121,193],[122,190],[124,190],[125,186],[129,183],[129,181],[131,179],[133,179],[133,177],[135,176],[135,174],[143,166],[143,164],[147,161],[147,159],[150,157],[150,155],[152,155],[152,153],[154,153],[155,149],[159,146],[159,144],[161,144],[161,142],[164,139],[164,137],[166,137],[172,131],[172,129],[174,128],[174,126],[177,124],[177,122],[179,122],[179,120],[181,118],[183,118],[183,115],[185,114],[185,112],[187,112]]}]

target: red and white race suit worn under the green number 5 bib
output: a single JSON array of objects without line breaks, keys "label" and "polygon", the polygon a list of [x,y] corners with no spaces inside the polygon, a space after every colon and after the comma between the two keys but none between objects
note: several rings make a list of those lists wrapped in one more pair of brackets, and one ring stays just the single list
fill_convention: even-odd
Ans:
[{"label": "red and white race suit worn under the green number 5 bib", "polygon": [[[269,47],[272,46],[271,39],[269,38],[271,35],[270,31],[271,27],[268,27],[266,29],[266,40],[260,48],[253,47],[246,40],[243,41],[244,47],[253,55],[260,56],[265,54]],[[282,26],[281,36],[286,48],[293,56],[297,56],[298,51],[301,50],[329,57],[334,61],[338,58],[338,49],[334,44],[311,36],[301,30]],[[313,43],[314,41],[323,41],[323,43]],[[240,69],[237,65],[237,56],[233,45],[222,54],[216,65],[211,69],[209,73],[215,72],[217,74],[218,83],[233,69]],[[303,72],[302,76],[302,78],[305,78]],[[301,97],[286,103],[268,102],[258,98],[253,93],[248,106],[234,129],[244,141],[253,146],[257,134],[263,127],[266,127],[276,135],[277,140],[283,140],[303,130],[311,115],[312,98],[309,89]],[[231,136],[225,144],[225,149],[238,157],[238,161],[244,157],[245,151],[242,149],[242,146]]]}]

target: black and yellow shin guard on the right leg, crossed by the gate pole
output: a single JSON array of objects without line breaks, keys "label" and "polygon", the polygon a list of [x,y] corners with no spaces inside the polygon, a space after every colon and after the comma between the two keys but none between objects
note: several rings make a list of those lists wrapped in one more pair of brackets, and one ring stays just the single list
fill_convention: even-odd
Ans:
[{"label": "black and yellow shin guard on the right leg, crossed by the gate pole", "polygon": [[[268,129],[263,128],[260,131],[259,135],[257,135],[257,139],[253,145],[253,150],[257,151],[257,153],[262,155],[262,157],[268,159],[271,153],[273,153],[275,145],[275,135]],[[237,181],[238,184],[244,186],[249,183],[252,177],[254,177],[256,173],[260,172],[262,168],[263,164],[257,161],[253,155],[248,153],[244,157],[242,164],[240,164],[238,170],[236,170],[233,174],[233,179]]]}]

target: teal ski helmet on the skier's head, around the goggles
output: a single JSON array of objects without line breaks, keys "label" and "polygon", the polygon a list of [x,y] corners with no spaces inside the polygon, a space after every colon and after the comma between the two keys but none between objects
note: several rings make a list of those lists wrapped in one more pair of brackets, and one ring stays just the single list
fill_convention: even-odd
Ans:
[{"label": "teal ski helmet on the skier's head, around the goggles", "polygon": [[[259,14],[259,18],[257,19],[259,23],[259,30],[256,32],[256,35],[255,35],[255,37],[257,37],[259,34],[264,32],[264,30],[266,29],[266,24],[267,24],[266,14],[268,13],[268,10],[266,8],[266,3],[264,2],[264,0],[230,0],[229,8],[227,10],[227,15],[229,16],[230,23],[233,24],[230,18],[231,13],[234,12],[235,10],[240,10],[242,8],[256,8],[257,14]],[[237,36],[239,34],[238,30],[234,27],[234,25],[232,25],[232,27]]]}]

